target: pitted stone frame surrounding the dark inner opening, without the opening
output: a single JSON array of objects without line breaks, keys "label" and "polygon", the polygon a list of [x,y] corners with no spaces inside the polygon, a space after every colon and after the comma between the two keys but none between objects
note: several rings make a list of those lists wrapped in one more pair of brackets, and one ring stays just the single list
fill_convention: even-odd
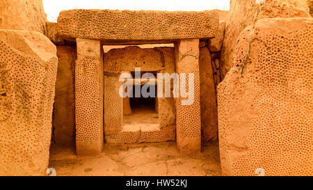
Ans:
[{"label": "pitted stone frame surrounding the dark inner opening, without the opening", "polygon": [[[129,62],[130,61],[130,62]],[[119,88],[123,82],[118,81],[122,72],[141,71],[175,72],[174,49],[157,47],[141,49],[124,47],[111,49],[104,56],[104,132],[108,143],[138,143],[138,141],[171,141],[175,139],[171,125],[175,125],[175,101],[172,97],[157,98],[156,109],[159,122],[151,124],[127,124],[123,115],[131,113],[129,98],[122,98]],[[126,70],[126,71],[125,71]],[[165,88],[163,88],[163,91]],[[127,109],[127,111],[125,110]],[[124,122],[124,123],[123,123]],[[164,128],[164,129],[160,129]],[[158,134],[160,135],[158,137]],[[141,140],[139,139],[143,135]]]}]

